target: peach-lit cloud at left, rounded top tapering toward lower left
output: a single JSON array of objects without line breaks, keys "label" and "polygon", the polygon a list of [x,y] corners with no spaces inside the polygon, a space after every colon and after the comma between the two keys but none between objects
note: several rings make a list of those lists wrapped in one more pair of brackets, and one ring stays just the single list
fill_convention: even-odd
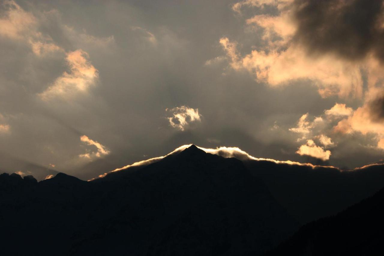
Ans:
[{"label": "peach-lit cloud at left, rounded top tapering toward lower left", "polygon": [[55,97],[73,96],[78,92],[86,92],[99,77],[98,70],[88,61],[89,55],[79,49],[66,54],[66,62],[70,72],[64,72],[40,97],[48,100]]}]

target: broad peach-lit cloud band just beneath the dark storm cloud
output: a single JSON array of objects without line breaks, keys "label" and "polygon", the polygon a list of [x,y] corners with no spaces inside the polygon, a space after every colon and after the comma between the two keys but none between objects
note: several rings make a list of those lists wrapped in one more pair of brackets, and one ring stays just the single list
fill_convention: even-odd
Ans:
[{"label": "broad peach-lit cloud band just beneath the dark storm cloud", "polygon": [[297,80],[311,80],[321,96],[339,95],[362,96],[361,66],[345,62],[332,55],[313,58],[303,47],[289,45],[286,50],[253,50],[241,57],[237,54],[236,43],[222,38],[230,65],[235,70],[245,69],[255,76],[258,82],[270,86],[288,85]]}]

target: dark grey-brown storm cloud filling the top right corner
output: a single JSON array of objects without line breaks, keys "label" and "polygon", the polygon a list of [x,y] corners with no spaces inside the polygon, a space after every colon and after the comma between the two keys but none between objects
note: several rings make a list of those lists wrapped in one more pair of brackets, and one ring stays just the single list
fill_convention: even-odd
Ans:
[{"label": "dark grey-brown storm cloud filling the top right corner", "polygon": [[373,53],[384,60],[382,0],[296,0],[295,39],[311,53],[337,53],[359,60]]}]

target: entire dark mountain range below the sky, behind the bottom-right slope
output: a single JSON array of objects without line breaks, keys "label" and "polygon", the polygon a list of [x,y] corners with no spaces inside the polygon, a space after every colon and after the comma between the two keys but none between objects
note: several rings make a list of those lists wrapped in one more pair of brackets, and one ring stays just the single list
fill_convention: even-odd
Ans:
[{"label": "entire dark mountain range below the sky, behind the bottom-right slope", "polygon": [[[382,187],[381,165],[342,172],[223,158],[194,145],[89,182],[64,173],[40,182],[4,173],[1,255],[336,255],[327,244],[316,246],[335,221],[348,223],[345,214],[300,226]],[[378,194],[344,212],[364,232],[369,225],[363,229],[356,212],[378,207]],[[326,254],[307,253],[315,251]]]}]

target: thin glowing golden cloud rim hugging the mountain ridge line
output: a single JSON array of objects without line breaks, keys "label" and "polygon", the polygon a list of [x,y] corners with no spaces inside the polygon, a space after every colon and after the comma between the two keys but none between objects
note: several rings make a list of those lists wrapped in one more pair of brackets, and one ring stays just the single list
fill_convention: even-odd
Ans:
[{"label": "thin glowing golden cloud rim hugging the mountain ridge line", "polygon": [[[147,159],[147,160],[139,161],[139,162],[133,163],[131,165],[126,165],[126,166],[123,166],[121,168],[117,168],[117,169],[115,169],[113,171],[109,171],[108,173],[113,173],[113,172],[116,172],[116,171],[126,170],[126,169],[128,169],[130,167],[134,167],[134,166],[149,165],[151,163],[155,163],[157,161],[162,160],[166,156],[173,155],[175,153],[179,153],[179,152],[185,150],[186,148],[190,147],[191,145],[192,144],[187,144],[187,145],[180,146],[180,147],[176,148],[174,151],[170,152],[169,154],[167,154],[165,156],[159,156],[159,157],[154,157],[154,158],[150,158],[150,159]],[[334,166],[313,165],[311,163],[299,163],[299,162],[290,161],[290,160],[280,161],[280,160],[274,160],[274,159],[270,159],[270,158],[256,158],[254,156],[249,155],[247,152],[241,150],[238,147],[220,146],[220,147],[217,147],[215,149],[214,148],[202,148],[202,147],[199,147],[199,146],[197,146],[197,147],[200,148],[201,150],[205,151],[206,153],[222,156],[224,158],[234,157],[234,158],[237,158],[239,160],[269,161],[269,162],[276,163],[276,164],[309,166],[309,167],[311,167],[313,169],[314,168],[322,167],[322,168],[334,168],[334,169],[337,169],[339,171],[345,171],[345,170],[341,170],[341,169],[339,169],[337,167],[334,167]],[[353,170],[348,170],[348,171],[361,170],[361,169],[367,168],[369,166],[377,166],[377,165],[384,165],[384,164],[374,163],[374,164],[369,164],[369,165],[364,165],[362,167],[354,168]],[[88,181],[92,181],[92,180],[95,180],[97,178],[103,178],[108,173],[101,174],[98,177],[92,178],[91,180],[88,180]]]}]

